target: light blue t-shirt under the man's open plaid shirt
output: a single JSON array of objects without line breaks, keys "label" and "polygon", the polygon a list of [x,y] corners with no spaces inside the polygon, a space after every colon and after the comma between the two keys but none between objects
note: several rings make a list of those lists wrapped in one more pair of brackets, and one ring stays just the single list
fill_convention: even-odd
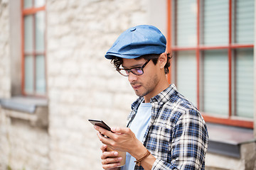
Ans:
[{"label": "light blue t-shirt under the man's open plaid shirt", "polygon": [[[139,105],[137,114],[130,125],[130,129],[134,132],[135,136],[139,141],[142,142],[143,137],[146,133],[146,128],[149,126],[151,120],[151,103],[141,103]],[[134,169],[136,159],[127,152],[126,163],[121,167],[121,170]]]}]

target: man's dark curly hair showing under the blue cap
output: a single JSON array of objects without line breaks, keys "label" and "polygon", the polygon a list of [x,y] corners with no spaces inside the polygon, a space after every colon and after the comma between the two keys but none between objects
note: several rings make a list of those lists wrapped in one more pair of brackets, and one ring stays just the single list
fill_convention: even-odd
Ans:
[{"label": "man's dark curly hair showing under the blue cap", "polygon": [[[159,54],[142,55],[141,57],[135,58],[135,60],[140,60],[140,59],[144,58],[145,60],[152,60],[152,62],[156,65],[160,55]],[[171,59],[171,54],[167,53],[167,62],[164,66],[165,74],[169,73],[169,67],[171,65],[170,59]],[[113,57],[113,59],[111,60],[111,63],[114,64],[114,67],[116,69],[119,69],[119,67],[122,65],[122,58],[121,57]]]}]

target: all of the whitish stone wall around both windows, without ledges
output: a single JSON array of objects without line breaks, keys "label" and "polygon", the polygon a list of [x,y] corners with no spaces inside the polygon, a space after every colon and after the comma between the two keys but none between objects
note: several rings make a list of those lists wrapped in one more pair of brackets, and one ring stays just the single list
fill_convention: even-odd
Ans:
[{"label": "all of the whitish stone wall around both windows, without ledges", "polygon": [[[9,115],[27,113],[0,105],[0,170],[8,166],[12,170],[102,169],[101,143],[87,119],[125,126],[130,104],[137,98],[127,78],[105,59],[105,52],[131,26],[154,23],[166,33],[166,1],[46,2],[48,127],[13,118]],[[0,0],[0,98],[11,98],[14,83],[10,75],[14,61],[9,57],[11,3]],[[242,147],[241,152],[246,154],[252,147],[255,144]],[[208,153],[206,169],[250,169],[249,159],[255,155],[233,159]]]}]

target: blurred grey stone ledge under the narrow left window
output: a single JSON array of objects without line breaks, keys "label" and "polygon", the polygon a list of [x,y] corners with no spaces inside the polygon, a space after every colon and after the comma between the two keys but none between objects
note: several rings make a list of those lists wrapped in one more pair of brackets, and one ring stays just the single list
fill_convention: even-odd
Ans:
[{"label": "blurred grey stone ledge under the narrow left window", "polygon": [[25,120],[41,128],[48,127],[48,101],[45,98],[23,96],[2,98],[0,105],[11,119]]}]

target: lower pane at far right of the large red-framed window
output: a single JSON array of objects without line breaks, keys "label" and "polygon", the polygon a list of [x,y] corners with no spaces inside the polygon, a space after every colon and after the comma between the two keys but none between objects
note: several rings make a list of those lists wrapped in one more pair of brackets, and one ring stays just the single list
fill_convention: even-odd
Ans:
[{"label": "lower pane at far right of the large red-framed window", "polygon": [[236,115],[253,118],[253,50],[239,49],[235,59]]}]

